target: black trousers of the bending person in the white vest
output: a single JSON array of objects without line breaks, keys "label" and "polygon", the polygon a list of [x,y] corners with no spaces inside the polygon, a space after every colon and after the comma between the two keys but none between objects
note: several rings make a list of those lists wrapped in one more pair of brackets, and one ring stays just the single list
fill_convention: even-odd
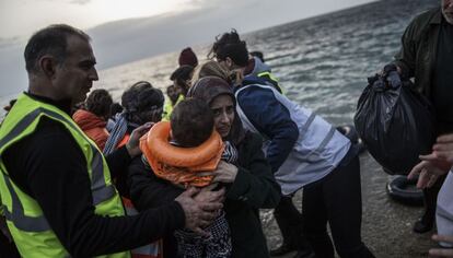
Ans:
[{"label": "black trousers of the bending person in the white vest", "polygon": [[335,257],[327,222],[340,257],[374,257],[361,241],[360,187],[360,162],[356,154],[351,159],[347,155],[325,178],[304,187],[304,234],[317,258]]}]

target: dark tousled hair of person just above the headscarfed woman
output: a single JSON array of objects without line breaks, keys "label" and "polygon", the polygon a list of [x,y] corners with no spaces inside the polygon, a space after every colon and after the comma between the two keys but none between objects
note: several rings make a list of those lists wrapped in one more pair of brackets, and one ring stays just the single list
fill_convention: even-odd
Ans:
[{"label": "dark tousled hair of person just above the headscarfed woman", "polygon": [[236,66],[246,67],[248,64],[247,45],[244,40],[241,40],[234,28],[230,33],[216,37],[208,57],[216,57],[222,61],[229,57]]}]

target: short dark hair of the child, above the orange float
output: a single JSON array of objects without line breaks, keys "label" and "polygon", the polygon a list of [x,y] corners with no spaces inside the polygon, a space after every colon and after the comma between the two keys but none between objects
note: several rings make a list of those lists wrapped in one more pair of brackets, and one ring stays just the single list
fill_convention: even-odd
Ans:
[{"label": "short dark hair of the child, above the orange float", "polygon": [[182,146],[197,146],[212,133],[213,114],[208,104],[198,98],[179,102],[170,117],[173,140]]}]

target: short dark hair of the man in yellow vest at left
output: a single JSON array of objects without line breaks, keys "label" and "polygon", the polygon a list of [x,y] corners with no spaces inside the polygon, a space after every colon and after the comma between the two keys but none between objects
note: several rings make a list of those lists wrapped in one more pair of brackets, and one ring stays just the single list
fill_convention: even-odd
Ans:
[{"label": "short dark hair of the man in yellow vest at left", "polygon": [[61,64],[68,54],[69,36],[79,36],[80,38],[90,42],[90,36],[84,32],[66,24],[50,25],[33,34],[24,50],[26,71],[28,73],[36,72],[37,60],[45,55],[54,56],[57,59],[58,64]]}]

